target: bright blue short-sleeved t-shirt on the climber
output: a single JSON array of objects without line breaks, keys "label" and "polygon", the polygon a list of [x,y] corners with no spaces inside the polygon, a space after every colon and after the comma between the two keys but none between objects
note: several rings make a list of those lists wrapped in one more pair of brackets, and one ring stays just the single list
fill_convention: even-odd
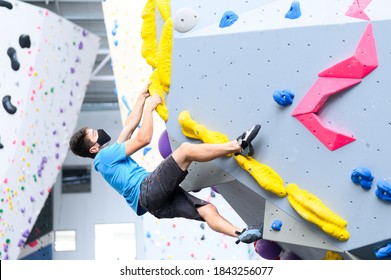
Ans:
[{"label": "bright blue short-sleeved t-shirt on the climber", "polygon": [[114,143],[102,149],[94,159],[95,170],[123,197],[129,206],[141,216],[145,209],[138,204],[140,185],[149,174],[130,156],[126,155],[125,143]]}]

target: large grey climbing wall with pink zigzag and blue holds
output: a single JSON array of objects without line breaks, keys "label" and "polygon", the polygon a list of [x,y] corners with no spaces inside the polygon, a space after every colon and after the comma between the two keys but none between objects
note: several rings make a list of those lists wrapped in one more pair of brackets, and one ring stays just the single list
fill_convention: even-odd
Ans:
[{"label": "large grey climbing wall with pink zigzag and blue holds", "polygon": [[[251,159],[194,164],[185,188],[220,183],[248,224],[264,222],[265,239],[302,258],[389,258],[388,1],[199,0],[170,8],[171,146],[202,141],[183,134],[184,111],[229,139],[262,125]],[[280,195],[266,188],[272,179]]]}]

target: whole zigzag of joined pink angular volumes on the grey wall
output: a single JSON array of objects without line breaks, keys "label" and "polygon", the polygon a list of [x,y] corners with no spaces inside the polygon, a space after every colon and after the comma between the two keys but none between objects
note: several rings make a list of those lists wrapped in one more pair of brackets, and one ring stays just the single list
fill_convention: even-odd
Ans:
[{"label": "whole zigzag of joined pink angular volumes on the grey wall", "polygon": [[[355,1],[353,5],[364,9],[370,1]],[[353,56],[320,72],[319,78],[292,112],[312,134],[328,149],[335,150],[355,140],[353,136],[327,128],[317,112],[333,94],[352,87],[378,66],[372,24],[368,24]]]}]

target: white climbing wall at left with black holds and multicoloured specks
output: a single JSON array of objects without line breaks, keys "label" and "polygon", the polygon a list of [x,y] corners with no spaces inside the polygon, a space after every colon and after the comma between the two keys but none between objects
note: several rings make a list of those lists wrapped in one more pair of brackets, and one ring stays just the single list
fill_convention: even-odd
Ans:
[{"label": "white climbing wall at left with black holds and multicoloured specks", "polygon": [[19,1],[0,1],[0,23],[0,258],[17,259],[61,170],[99,42]]}]

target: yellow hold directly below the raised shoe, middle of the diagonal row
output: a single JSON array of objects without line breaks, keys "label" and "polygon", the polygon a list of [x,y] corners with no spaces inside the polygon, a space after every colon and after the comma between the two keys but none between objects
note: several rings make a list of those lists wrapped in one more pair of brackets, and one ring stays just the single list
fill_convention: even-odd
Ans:
[{"label": "yellow hold directly below the raised shoe, middle of the diagonal row", "polygon": [[236,162],[246,170],[258,184],[265,190],[274,193],[279,197],[285,197],[286,191],[284,180],[271,167],[256,161],[249,156],[237,155]]}]

